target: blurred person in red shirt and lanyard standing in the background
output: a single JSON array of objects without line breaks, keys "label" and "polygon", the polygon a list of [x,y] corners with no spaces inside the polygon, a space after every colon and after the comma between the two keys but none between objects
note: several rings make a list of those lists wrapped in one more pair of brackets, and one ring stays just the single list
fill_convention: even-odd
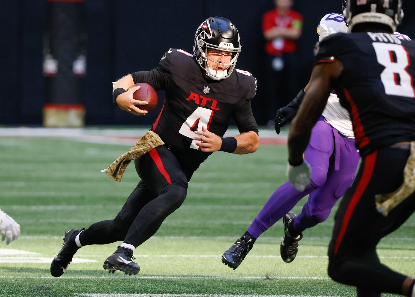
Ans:
[{"label": "blurred person in red shirt and lanyard standing in the background", "polygon": [[303,32],[303,16],[291,10],[293,0],[274,0],[275,9],[264,13],[262,32],[266,39],[266,111],[271,126],[277,109],[298,92],[297,40]]}]

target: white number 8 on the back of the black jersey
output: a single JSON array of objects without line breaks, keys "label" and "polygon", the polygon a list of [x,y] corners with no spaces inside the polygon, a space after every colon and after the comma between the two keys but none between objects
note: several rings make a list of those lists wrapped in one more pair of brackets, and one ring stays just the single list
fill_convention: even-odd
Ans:
[{"label": "white number 8 on the back of the black jersey", "polygon": [[[409,66],[408,52],[402,45],[374,42],[378,63],[385,69],[381,73],[381,81],[388,95],[415,97],[413,78],[406,68]],[[393,61],[393,53],[396,62]]]}]

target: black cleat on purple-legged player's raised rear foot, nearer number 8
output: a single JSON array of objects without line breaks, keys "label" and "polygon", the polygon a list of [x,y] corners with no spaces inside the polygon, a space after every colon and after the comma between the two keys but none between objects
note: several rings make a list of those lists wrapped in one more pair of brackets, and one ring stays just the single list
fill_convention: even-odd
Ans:
[{"label": "black cleat on purple-legged player's raised rear foot, nearer number 8", "polygon": [[[284,223],[284,237],[280,245],[280,254],[284,262],[293,262],[298,252],[298,240],[303,238],[303,234],[299,233],[291,235],[288,229],[293,229],[291,226],[294,223],[295,213],[290,211],[283,217]],[[291,228],[288,228],[290,226]]]}]

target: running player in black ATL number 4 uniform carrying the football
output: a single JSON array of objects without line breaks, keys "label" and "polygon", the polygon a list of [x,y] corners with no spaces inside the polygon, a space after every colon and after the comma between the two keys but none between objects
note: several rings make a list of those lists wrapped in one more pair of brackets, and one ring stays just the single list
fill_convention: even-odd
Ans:
[{"label": "running player in black ATL number 4 uniform carrying the football", "polygon": [[[135,115],[147,111],[137,107],[146,102],[133,99],[138,89],[133,84],[145,82],[156,90],[165,90],[164,106],[151,127],[164,145],[135,160],[141,181],[115,219],[66,232],[51,264],[53,276],[65,272],[79,247],[120,240],[123,243],[105,260],[104,268],[135,275],[140,269],[131,260],[135,248],[181,206],[188,181],[200,163],[214,151],[256,151],[258,126],[250,101],[256,94],[256,79],[235,68],[240,51],[239,33],[232,22],[210,17],[196,31],[193,54],[169,49],[159,67],[128,74],[115,83],[114,103]],[[231,119],[240,134],[223,137]]]}]

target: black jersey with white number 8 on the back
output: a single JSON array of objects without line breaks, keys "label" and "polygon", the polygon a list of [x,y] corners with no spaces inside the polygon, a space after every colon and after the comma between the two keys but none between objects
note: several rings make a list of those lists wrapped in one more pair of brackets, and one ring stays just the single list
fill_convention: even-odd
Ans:
[{"label": "black jersey with white number 8 on the back", "polygon": [[388,33],[341,33],[317,43],[315,56],[316,63],[343,63],[335,91],[352,117],[362,156],[415,141],[414,41]]}]

